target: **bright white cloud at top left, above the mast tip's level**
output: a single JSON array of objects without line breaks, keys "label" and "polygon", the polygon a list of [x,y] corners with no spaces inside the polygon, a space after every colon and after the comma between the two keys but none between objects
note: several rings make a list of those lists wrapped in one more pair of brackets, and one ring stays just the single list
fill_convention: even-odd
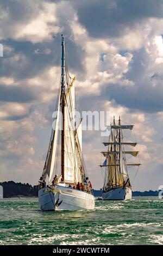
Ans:
[{"label": "bright white cloud at top left, above the mast tip's level", "polygon": [[57,4],[48,2],[26,3],[32,10],[30,19],[12,21],[9,9],[2,10],[3,18],[0,39],[31,41],[34,44],[43,40],[52,40],[52,36],[60,31],[56,17]]}]

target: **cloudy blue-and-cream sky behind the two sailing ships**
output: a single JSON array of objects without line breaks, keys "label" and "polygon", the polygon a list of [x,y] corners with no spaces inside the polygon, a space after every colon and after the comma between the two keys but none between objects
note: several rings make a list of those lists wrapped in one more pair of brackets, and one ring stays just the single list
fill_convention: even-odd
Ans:
[{"label": "cloudy blue-and-cream sky behind the two sailing ships", "polygon": [[[0,0],[0,179],[37,184],[61,72],[61,34],[82,111],[133,124],[133,190],[163,184],[162,0]],[[133,133],[134,132],[134,133]],[[133,139],[134,141],[134,139]],[[92,186],[103,186],[101,131],[83,131]]]}]

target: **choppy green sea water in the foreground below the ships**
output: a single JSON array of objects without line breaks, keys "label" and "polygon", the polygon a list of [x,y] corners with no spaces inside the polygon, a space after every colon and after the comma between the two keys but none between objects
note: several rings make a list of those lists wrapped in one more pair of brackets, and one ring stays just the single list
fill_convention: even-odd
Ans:
[{"label": "choppy green sea water in the foreground below the ships", "polygon": [[37,198],[0,199],[0,245],[163,245],[163,199],[96,201],[93,211],[39,210]]}]

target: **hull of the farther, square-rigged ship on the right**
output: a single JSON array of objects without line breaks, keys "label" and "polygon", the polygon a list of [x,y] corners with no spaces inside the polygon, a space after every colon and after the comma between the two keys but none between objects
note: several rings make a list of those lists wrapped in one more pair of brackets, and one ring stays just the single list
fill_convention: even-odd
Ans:
[{"label": "hull of the farther, square-rigged ship on the right", "polygon": [[130,187],[118,187],[102,194],[103,200],[126,200],[132,198]]}]

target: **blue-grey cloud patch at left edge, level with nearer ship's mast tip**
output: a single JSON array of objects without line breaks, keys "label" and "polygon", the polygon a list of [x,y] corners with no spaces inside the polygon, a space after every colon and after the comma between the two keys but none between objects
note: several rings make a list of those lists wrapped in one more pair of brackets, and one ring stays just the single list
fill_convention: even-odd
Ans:
[{"label": "blue-grey cloud patch at left edge, level with nearer ship's mast tip", "polygon": [[[57,49],[57,43],[54,41],[50,43],[39,43],[32,44],[29,41],[14,41],[5,40],[2,42],[3,45],[12,47],[14,50],[9,56],[5,52],[4,57],[0,59],[1,76],[12,76],[15,80],[20,80],[28,77],[33,77],[41,72],[48,66],[58,65],[60,59],[60,52]],[[54,46],[52,46],[54,45]],[[50,54],[35,54],[35,50],[44,50],[49,48]],[[14,59],[15,56],[20,55],[20,59]]]}]

